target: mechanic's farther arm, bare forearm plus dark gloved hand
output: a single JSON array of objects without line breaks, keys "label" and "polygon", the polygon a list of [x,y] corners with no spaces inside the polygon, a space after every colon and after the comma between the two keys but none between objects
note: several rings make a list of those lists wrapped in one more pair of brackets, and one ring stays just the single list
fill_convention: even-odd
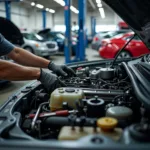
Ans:
[{"label": "mechanic's farther arm, bare forearm plus dark gloved hand", "polygon": [[66,65],[56,65],[53,62],[38,57],[30,52],[22,48],[15,47],[9,54],[8,57],[13,59],[19,64],[31,67],[38,67],[38,68],[48,68],[56,73],[58,76],[72,76],[75,75],[74,71],[67,67]]}]

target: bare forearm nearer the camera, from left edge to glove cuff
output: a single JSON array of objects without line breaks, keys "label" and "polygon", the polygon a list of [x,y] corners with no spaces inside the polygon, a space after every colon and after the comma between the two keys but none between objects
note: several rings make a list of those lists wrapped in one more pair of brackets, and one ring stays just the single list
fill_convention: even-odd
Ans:
[{"label": "bare forearm nearer the camera, from left edge to glove cuff", "polygon": [[34,80],[40,78],[40,69],[24,67],[5,60],[0,60],[0,79],[10,81]]}]

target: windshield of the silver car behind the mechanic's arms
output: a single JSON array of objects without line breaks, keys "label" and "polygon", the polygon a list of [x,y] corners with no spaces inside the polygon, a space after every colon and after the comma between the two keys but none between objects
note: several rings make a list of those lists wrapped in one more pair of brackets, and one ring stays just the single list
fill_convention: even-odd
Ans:
[{"label": "windshield of the silver car behind the mechanic's arms", "polygon": [[34,33],[23,33],[24,38],[28,40],[43,41],[43,37]]}]

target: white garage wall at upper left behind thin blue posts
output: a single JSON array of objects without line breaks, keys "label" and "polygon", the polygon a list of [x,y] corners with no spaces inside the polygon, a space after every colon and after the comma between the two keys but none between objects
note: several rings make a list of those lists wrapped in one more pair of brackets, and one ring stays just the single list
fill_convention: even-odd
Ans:
[{"label": "white garage wall at upper left behind thin blue posts", "polygon": [[[6,17],[5,5],[0,2],[0,16]],[[11,21],[14,22],[20,29],[40,30],[43,28],[42,13],[35,7],[27,8],[21,3],[13,2],[11,4]],[[53,26],[52,14],[47,13],[47,28]]]}]

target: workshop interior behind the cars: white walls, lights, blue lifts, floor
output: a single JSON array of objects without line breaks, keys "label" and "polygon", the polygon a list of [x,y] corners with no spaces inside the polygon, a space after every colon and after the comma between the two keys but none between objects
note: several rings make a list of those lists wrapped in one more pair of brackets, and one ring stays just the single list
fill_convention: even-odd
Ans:
[{"label": "workshop interior behind the cars: white walls, lights, blue lifts, floor", "polygon": [[[80,51],[80,54],[77,58],[70,56],[70,45],[67,45],[63,51],[46,57],[57,64],[103,59],[99,56],[98,50],[92,49],[94,36],[101,32],[119,30],[119,23],[122,22],[122,19],[101,0],[5,0],[0,1],[0,17],[11,20],[21,32],[38,33],[47,28],[64,35],[74,32],[77,51]],[[67,36],[65,38],[65,41],[69,39]],[[28,82],[30,81],[2,85],[0,103]]]}]

